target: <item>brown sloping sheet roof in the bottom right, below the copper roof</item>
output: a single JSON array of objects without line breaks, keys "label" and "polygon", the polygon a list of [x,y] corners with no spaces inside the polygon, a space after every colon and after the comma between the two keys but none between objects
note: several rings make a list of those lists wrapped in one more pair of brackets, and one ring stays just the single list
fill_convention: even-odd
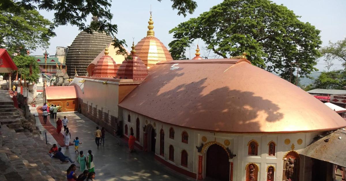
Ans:
[{"label": "brown sloping sheet roof in the bottom right, below the copper roof", "polygon": [[346,130],[335,132],[310,144],[299,154],[346,167]]}]

